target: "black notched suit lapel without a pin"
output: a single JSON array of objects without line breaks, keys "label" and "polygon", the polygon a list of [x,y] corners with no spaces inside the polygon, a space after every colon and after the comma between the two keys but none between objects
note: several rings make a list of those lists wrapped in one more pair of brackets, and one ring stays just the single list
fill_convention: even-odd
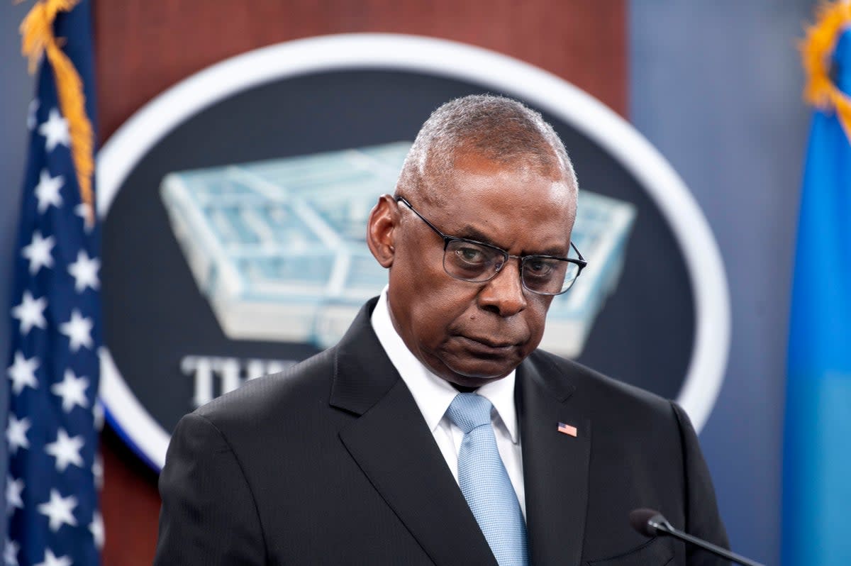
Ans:
[{"label": "black notched suit lapel without a pin", "polygon": [[374,304],[337,346],[331,404],[359,415],[340,439],[434,563],[495,566],[414,397],[374,334]]}]

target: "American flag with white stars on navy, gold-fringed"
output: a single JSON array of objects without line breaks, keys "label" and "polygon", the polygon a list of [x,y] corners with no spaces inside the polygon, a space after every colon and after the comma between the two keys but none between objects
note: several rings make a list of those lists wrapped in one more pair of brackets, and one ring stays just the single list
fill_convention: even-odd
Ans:
[{"label": "American flag with white stars on navy, gold-fringed", "polygon": [[[78,83],[71,84],[77,110],[85,110],[86,125],[94,129],[92,30],[89,0],[66,4],[70,11],[60,11],[52,25],[43,2],[30,20],[31,31],[48,43],[42,42],[46,52],[36,53],[44,54],[27,120],[30,146],[10,312],[7,565],[98,564],[104,540],[96,488],[100,229],[91,203],[81,197],[81,185],[93,186],[91,172],[86,180],[79,156],[72,155],[81,147],[91,152],[90,136],[88,144],[80,142],[80,113],[69,119],[73,106],[66,94],[70,62],[85,97],[83,102]],[[38,26],[44,21],[47,26]]]}]

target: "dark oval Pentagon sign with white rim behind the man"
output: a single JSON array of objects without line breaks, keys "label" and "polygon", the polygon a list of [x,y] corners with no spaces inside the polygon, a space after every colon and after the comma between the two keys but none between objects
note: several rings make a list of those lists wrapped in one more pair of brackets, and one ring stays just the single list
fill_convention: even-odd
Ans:
[{"label": "dark oval Pentagon sign with white rim behind the man", "polygon": [[676,398],[700,430],[727,364],[726,277],[703,214],[602,103],[505,55],[388,34],[312,37],[187,78],[100,152],[101,398],[155,469],[183,414],[334,344],[386,273],[365,223],[429,113],[465,94],[541,111],[580,179],[589,267],[541,347]]}]

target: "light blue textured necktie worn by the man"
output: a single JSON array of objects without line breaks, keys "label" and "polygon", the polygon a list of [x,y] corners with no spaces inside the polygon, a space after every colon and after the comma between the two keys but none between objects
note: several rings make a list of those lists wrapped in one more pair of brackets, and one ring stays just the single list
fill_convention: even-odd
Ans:
[{"label": "light blue textured necktie worn by the man", "polygon": [[496,448],[488,399],[459,393],[446,415],[462,432],[458,483],[500,566],[526,566],[526,523]]}]

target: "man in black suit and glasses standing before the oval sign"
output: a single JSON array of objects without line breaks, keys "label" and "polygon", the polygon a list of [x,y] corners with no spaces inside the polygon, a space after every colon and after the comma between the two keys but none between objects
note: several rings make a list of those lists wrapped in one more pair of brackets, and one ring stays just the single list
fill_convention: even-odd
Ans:
[{"label": "man in black suit and glasses standing before the oval sign", "polygon": [[576,193],[537,113],[437,109],[369,218],[381,296],[337,346],[180,421],[156,563],[716,563],[627,520],[726,545],[683,410],[536,350],[585,263]]}]

